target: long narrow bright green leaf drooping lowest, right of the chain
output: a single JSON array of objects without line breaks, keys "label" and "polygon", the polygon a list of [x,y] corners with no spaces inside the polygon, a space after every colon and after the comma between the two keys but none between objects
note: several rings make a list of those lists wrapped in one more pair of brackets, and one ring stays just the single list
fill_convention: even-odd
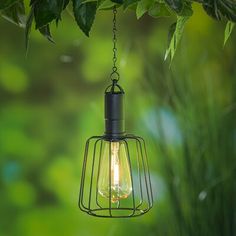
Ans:
[{"label": "long narrow bright green leaf drooping lowest, right of the chain", "polygon": [[170,42],[165,54],[165,60],[170,56],[170,60],[172,62],[180,39],[182,37],[184,26],[189,19],[189,16],[178,16],[177,22],[171,25],[169,30],[169,38]]}]

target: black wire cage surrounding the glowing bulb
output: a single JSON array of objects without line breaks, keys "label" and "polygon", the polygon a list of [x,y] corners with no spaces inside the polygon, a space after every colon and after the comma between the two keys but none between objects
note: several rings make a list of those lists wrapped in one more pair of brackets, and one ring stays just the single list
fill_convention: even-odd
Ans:
[{"label": "black wire cage surrounding the glowing bulb", "polygon": [[[104,171],[101,166],[105,143],[109,144],[109,196],[104,198],[99,193],[98,179]],[[119,142],[125,147],[130,171],[132,190],[125,199],[112,202],[111,193],[111,146]],[[86,142],[82,176],[79,192],[79,208],[91,216],[105,218],[129,218],[147,213],[153,206],[151,177],[147,159],[146,145],[143,138],[124,135],[115,139],[107,136],[92,136]]]}]

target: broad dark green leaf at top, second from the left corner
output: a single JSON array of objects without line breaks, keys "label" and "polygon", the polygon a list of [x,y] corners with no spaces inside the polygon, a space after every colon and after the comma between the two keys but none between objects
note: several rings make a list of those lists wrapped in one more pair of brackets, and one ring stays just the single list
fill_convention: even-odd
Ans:
[{"label": "broad dark green leaf at top, second from the left corner", "polygon": [[35,1],[34,17],[36,29],[46,26],[55,19],[60,19],[64,9],[64,0],[38,0]]}]

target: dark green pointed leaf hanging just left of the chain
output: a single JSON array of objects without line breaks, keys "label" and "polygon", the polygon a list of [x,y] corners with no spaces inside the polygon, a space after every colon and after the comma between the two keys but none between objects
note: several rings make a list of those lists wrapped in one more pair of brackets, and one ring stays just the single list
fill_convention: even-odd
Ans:
[{"label": "dark green pointed leaf hanging just left of the chain", "polygon": [[80,29],[89,37],[89,32],[96,15],[97,2],[85,2],[73,0],[75,20]]}]

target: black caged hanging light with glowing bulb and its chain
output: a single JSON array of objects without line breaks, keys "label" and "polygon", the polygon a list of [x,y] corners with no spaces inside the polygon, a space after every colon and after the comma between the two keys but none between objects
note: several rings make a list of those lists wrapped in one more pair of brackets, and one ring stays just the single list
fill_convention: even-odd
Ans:
[{"label": "black caged hanging light with glowing bulb and its chain", "polygon": [[105,90],[105,133],[85,146],[79,207],[91,216],[140,216],[153,205],[151,179],[143,138],[125,133],[124,90],[118,84],[116,7],[113,8],[112,83]]}]

